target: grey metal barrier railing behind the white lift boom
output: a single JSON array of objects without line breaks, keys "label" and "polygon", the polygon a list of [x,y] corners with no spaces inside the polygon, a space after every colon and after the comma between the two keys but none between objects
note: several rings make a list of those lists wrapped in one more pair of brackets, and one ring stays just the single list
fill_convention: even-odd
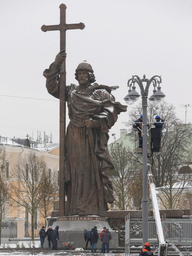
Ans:
[{"label": "grey metal barrier railing behind the white lift boom", "polygon": [[[161,219],[165,240],[192,241],[191,219]],[[142,238],[142,219],[130,219],[130,239]],[[157,238],[155,219],[148,219],[148,238]]]}]

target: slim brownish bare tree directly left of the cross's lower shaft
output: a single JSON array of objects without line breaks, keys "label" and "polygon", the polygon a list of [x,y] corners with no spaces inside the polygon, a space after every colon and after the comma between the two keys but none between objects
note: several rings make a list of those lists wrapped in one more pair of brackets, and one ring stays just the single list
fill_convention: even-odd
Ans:
[{"label": "slim brownish bare tree directly left of the cross's lower shaft", "polygon": [[45,219],[50,215],[51,210],[53,209],[53,203],[55,198],[58,198],[58,176],[57,170],[47,169],[46,163],[43,167],[43,183],[41,184],[40,189],[40,202],[39,202],[39,213],[40,216]]}]

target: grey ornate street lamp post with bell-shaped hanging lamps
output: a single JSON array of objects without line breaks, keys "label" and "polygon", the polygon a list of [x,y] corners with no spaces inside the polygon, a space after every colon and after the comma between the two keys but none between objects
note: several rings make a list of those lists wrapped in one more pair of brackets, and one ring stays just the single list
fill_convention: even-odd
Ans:
[{"label": "grey ornate street lamp post with bell-shaped hanging lamps", "polygon": [[[145,75],[140,79],[138,75],[132,76],[128,80],[127,86],[130,87],[129,93],[125,96],[124,100],[126,104],[134,104],[138,100],[140,95],[135,91],[135,83],[138,84],[141,90],[142,96],[142,137],[143,137],[143,197],[142,197],[142,236],[143,236],[143,247],[148,242],[148,197],[147,197],[147,97],[150,84],[154,86],[153,95],[150,96],[149,100],[151,104],[158,104],[164,100],[165,94],[161,91],[160,83],[161,76],[154,75],[151,79],[147,79]],[[144,89],[143,82],[146,82]],[[158,86],[157,86],[158,85]],[[157,87],[157,90],[155,89]],[[132,90],[131,90],[132,88]]]}]

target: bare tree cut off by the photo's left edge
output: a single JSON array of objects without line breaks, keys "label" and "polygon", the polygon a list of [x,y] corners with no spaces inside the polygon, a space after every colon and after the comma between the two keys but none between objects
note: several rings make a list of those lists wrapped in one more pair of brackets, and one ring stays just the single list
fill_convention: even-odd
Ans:
[{"label": "bare tree cut off by the photo's left edge", "polygon": [[2,219],[10,211],[9,197],[10,197],[10,184],[9,184],[9,175],[6,175],[6,163],[7,157],[5,150],[0,146],[0,245],[1,245],[1,228],[2,228]]}]

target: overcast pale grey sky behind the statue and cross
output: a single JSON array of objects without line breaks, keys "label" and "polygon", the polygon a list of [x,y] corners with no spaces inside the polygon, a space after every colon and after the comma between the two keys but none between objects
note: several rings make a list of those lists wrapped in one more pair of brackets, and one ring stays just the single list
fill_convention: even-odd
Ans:
[{"label": "overcast pale grey sky behind the statue and cross", "polygon": [[[1,0],[0,94],[56,100],[48,94],[42,76],[59,51],[59,31],[41,26],[59,23],[61,0]],[[190,0],[65,0],[66,23],[85,23],[84,30],[66,32],[66,81],[76,83],[82,60],[93,67],[96,82],[118,85],[116,101],[124,104],[132,75],[162,76],[166,101],[185,120],[192,104],[192,2]],[[137,87],[136,89],[139,92]],[[152,86],[149,94],[152,94]],[[136,104],[132,105],[133,107]],[[37,130],[59,138],[59,102],[0,96],[0,135],[37,139]],[[131,108],[128,108],[128,112]],[[119,137],[122,113],[111,129]],[[158,114],[158,113],[157,113]],[[68,119],[67,119],[68,121]],[[188,108],[187,122],[192,122]],[[112,140],[112,139],[110,139]]]}]

